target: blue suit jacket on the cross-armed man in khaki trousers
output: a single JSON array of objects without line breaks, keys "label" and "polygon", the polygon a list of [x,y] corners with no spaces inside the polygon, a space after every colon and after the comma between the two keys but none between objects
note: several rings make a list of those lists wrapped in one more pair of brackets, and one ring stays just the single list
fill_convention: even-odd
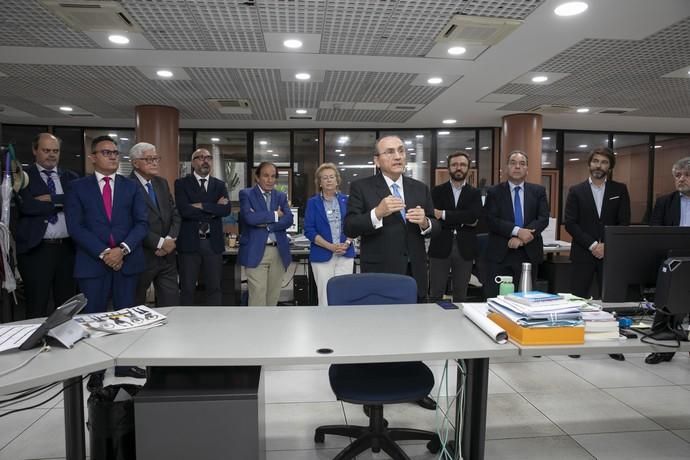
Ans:
[{"label": "blue suit jacket on the cross-armed man in khaki trousers", "polygon": [[[275,211],[283,211],[283,215],[275,220]],[[271,206],[266,206],[266,200],[259,186],[240,190],[240,249],[237,259],[240,265],[256,268],[261,262],[266,250],[269,232],[273,232],[278,243],[278,252],[287,269],[292,261],[290,257],[290,241],[285,230],[292,225],[292,212],[287,201],[287,195],[275,189],[271,190]]]}]

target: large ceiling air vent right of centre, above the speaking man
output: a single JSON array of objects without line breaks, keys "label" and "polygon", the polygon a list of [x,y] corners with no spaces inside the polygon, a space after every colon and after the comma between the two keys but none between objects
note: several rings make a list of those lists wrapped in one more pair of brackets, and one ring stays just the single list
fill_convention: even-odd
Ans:
[{"label": "large ceiling air vent right of centre, above the speaking man", "polygon": [[468,45],[491,46],[506,38],[521,24],[522,21],[515,19],[485,18],[456,14],[436,37],[436,42],[458,42]]}]

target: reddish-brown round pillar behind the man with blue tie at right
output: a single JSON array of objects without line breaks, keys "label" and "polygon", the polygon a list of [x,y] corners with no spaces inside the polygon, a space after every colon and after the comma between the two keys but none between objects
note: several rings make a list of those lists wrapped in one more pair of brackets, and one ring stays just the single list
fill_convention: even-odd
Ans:
[{"label": "reddish-brown round pillar behind the man with blue tie at right", "polygon": [[[505,171],[508,154],[522,150],[527,154],[527,182],[541,184],[542,116],[538,113],[516,113],[503,117],[501,134],[501,171]],[[501,180],[506,180],[505,173]]]}]

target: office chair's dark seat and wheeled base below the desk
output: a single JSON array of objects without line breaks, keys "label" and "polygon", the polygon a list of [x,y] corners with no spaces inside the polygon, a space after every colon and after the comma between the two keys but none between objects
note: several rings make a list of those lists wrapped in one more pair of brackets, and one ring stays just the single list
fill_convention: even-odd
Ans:
[{"label": "office chair's dark seat and wheeled base below the desk", "polygon": [[356,438],[334,460],[349,460],[371,449],[383,450],[394,460],[409,460],[395,441],[424,440],[427,449],[437,453],[441,441],[436,433],[412,428],[389,428],[383,418],[383,405],[417,401],[434,386],[431,370],[421,362],[335,364],[329,369],[333,392],[338,399],[363,404],[369,413],[369,426],[325,425],[314,433],[314,441],[324,442],[325,435]]}]

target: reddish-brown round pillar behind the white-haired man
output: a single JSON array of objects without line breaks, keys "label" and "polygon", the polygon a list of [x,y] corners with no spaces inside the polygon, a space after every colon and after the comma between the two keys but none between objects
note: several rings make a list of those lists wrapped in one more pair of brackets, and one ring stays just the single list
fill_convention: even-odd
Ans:
[{"label": "reddish-brown round pillar behind the white-haired man", "polygon": [[137,142],[156,146],[161,157],[160,176],[167,179],[172,192],[180,169],[180,112],[162,105],[139,105],[134,111]]}]

